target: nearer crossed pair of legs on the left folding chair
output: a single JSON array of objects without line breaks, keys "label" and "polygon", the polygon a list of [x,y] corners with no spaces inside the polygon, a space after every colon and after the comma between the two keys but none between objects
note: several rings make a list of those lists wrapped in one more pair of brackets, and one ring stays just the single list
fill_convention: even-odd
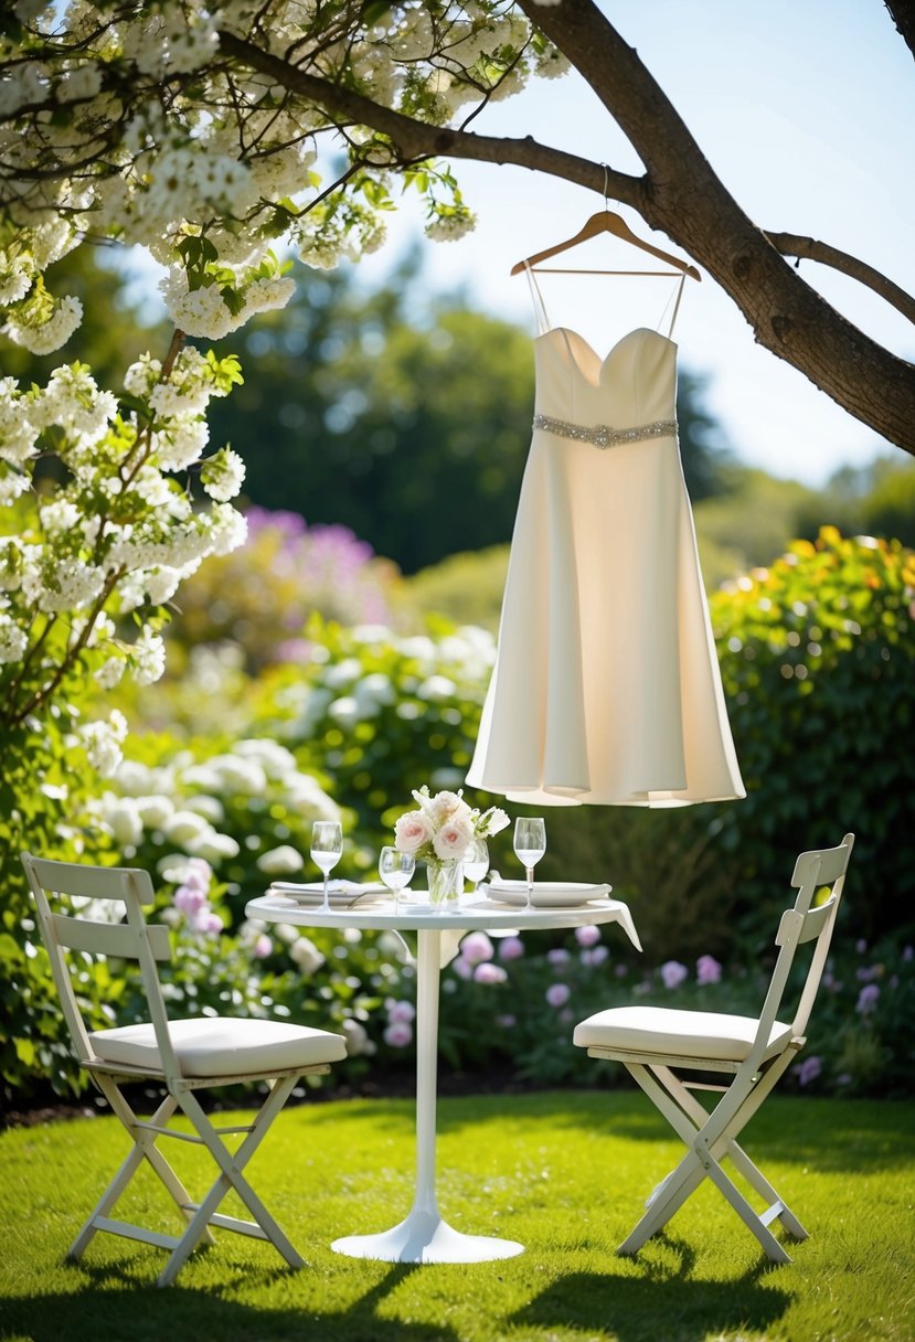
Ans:
[{"label": "nearer crossed pair of legs on the left folding chair", "polygon": [[[177,1091],[176,1098],[178,1104],[193,1123],[197,1134],[219,1165],[221,1173],[203,1201],[193,1208],[193,1216],[191,1217],[189,1225],[165,1264],[165,1270],[156,1283],[157,1286],[169,1286],[176,1279],[177,1274],[196,1248],[197,1241],[207,1232],[207,1228],[211,1224],[219,1225],[224,1229],[236,1231],[241,1235],[252,1235],[256,1239],[268,1239],[282,1257],[286,1259],[290,1267],[305,1267],[305,1259],[292,1247],[241,1173],[266,1137],[274,1118],[288,1099],[297,1080],[298,1076],[286,1076],[272,1086],[270,1095],[259,1110],[247,1137],[235,1151],[235,1155],[231,1154],[225,1143],[221,1141],[219,1133],[204,1114],[193,1092],[184,1088]],[[229,1188],[235,1189],[244,1205],[248,1208],[254,1216],[254,1223],[239,1221],[235,1217],[221,1217],[216,1215],[216,1209],[228,1193]]]}]

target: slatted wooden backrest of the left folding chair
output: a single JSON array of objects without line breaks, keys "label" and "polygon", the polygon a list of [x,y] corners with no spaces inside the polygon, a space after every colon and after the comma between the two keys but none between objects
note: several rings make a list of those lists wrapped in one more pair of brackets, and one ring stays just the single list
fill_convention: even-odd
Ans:
[{"label": "slatted wooden backrest of the left folding chair", "polygon": [[[64,1020],[80,1063],[91,1062],[94,1053],[74,977],[80,954],[103,956],[138,962],[162,1068],[169,1076],[180,1075],[156,968],[157,962],[172,958],[169,931],[165,926],[149,926],[144,917],[144,905],[152,905],[154,898],[149,872],[138,867],[52,862],[28,852],[21,854],[21,860],[35,896],[39,929],[51,960]],[[122,921],[115,922],[118,917]]]}]

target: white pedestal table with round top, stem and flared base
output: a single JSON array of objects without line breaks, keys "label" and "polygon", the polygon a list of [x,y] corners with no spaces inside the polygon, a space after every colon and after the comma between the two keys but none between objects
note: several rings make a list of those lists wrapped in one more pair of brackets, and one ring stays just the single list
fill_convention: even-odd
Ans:
[{"label": "white pedestal table with round top, stem and flared base", "polygon": [[458,909],[432,906],[423,892],[404,891],[393,899],[364,906],[335,907],[323,913],[318,905],[298,903],[268,892],[247,905],[247,915],[264,922],[302,927],[360,927],[364,930],[417,934],[416,953],[416,1189],[405,1220],[377,1235],[347,1235],[334,1240],[337,1253],[381,1259],[388,1263],[486,1263],[523,1253],[523,1244],[487,1235],[463,1235],[441,1219],[436,1197],[436,1094],[439,1055],[439,980],[441,966],[458,953],[460,938],[474,930],[518,931],[582,927],[589,923],[620,923],[641,950],[629,909],[618,899],[590,903],[522,909],[468,895]]}]

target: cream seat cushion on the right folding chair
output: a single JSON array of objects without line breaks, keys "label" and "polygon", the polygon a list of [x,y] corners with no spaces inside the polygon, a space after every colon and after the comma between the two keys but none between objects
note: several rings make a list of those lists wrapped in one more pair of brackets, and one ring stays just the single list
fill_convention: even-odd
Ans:
[{"label": "cream seat cushion on the right folding chair", "polygon": [[[758,1028],[755,1016],[723,1016],[669,1007],[614,1007],[598,1011],[576,1025],[573,1043],[580,1048],[618,1048],[631,1053],[741,1063],[749,1055]],[[777,1020],[769,1032],[765,1057],[781,1052],[790,1037],[792,1027]]]}]

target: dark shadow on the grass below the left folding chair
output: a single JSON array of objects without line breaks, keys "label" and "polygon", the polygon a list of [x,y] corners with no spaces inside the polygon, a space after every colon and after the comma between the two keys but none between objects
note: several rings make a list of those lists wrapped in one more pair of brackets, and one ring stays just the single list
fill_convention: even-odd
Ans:
[{"label": "dark shadow on the grass below the left folding chair", "polygon": [[[123,1271],[122,1271],[123,1268]],[[158,1290],[148,1283],[125,1284],[130,1263],[79,1271],[93,1279],[78,1294],[31,1294],[0,1300],[0,1338],[28,1342],[185,1342],[212,1338],[217,1342],[460,1342],[458,1334],[440,1323],[384,1318],[377,1307],[412,1272],[413,1264],[392,1264],[377,1286],[370,1287],[345,1308],[334,1311],[315,1306],[314,1292],[297,1303],[297,1272],[244,1272],[236,1283],[217,1288],[188,1288],[178,1282]],[[256,1287],[274,1298],[286,1294],[282,1307],[247,1304],[227,1299],[236,1287]]]}]

